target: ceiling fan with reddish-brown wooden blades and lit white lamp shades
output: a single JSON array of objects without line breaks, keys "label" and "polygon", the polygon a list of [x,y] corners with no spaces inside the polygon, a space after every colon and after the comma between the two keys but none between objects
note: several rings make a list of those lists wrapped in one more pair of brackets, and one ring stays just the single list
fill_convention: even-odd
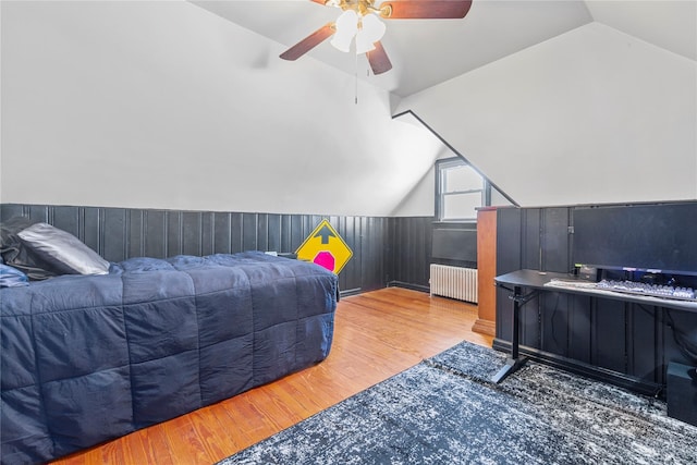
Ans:
[{"label": "ceiling fan with reddish-brown wooden blades and lit white lamp shades", "polygon": [[[472,0],[310,0],[327,7],[340,8],[343,13],[335,22],[325,24],[313,34],[281,53],[284,60],[297,60],[333,36],[331,44],[341,51],[350,51],[355,39],[356,54],[366,53],[374,74],[392,69],[380,39],[383,20],[445,20],[465,17]],[[376,3],[379,3],[376,5]]]}]

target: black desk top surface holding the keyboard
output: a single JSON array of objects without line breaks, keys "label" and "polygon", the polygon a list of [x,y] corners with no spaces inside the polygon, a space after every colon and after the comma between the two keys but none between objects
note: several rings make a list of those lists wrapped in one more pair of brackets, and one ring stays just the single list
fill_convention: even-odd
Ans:
[{"label": "black desk top surface holding the keyboard", "polygon": [[[553,280],[561,280],[570,285],[551,285]],[[498,286],[519,286],[545,290],[549,292],[566,292],[572,294],[588,295],[590,297],[603,297],[617,301],[634,302],[637,304],[653,305],[657,307],[674,308],[697,313],[697,302],[676,301],[672,298],[653,297],[650,295],[625,294],[622,292],[594,289],[592,282],[582,280],[574,274],[557,273],[538,270],[517,270],[494,278]],[[511,290],[512,291],[512,290]]]}]

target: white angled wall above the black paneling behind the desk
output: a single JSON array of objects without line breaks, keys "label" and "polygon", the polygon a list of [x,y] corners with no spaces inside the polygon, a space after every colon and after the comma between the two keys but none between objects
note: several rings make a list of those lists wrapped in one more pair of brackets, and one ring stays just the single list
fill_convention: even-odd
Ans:
[{"label": "white angled wall above the black paneling behind the desk", "polygon": [[697,198],[697,64],[591,23],[403,99],[522,206]]}]

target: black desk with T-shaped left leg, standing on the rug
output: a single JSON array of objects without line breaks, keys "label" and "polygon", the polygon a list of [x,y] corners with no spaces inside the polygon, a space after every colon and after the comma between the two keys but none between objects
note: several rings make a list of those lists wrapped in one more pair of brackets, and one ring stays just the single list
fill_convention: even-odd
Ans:
[{"label": "black desk with T-shaped left leg, standing on the rug", "polygon": [[[552,281],[562,281],[564,285],[553,285]],[[501,382],[505,377],[517,370],[525,364],[526,358],[521,356],[518,332],[521,307],[536,297],[540,292],[565,292],[582,294],[592,297],[612,298],[624,302],[649,304],[657,307],[673,308],[677,310],[697,313],[697,302],[676,301],[647,295],[625,294],[621,292],[594,289],[589,281],[584,281],[574,274],[555,273],[538,270],[517,270],[494,278],[496,285],[511,291],[513,301],[513,332],[511,336],[511,356],[506,364],[492,378],[493,382]]]}]

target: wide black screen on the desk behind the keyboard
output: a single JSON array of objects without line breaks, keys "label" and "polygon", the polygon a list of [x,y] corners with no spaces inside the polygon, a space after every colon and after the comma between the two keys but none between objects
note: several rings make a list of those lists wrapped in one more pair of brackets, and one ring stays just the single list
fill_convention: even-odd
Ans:
[{"label": "wide black screen on the desk behind the keyboard", "polygon": [[697,276],[697,203],[578,207],[573,225],[576,265]]}]

